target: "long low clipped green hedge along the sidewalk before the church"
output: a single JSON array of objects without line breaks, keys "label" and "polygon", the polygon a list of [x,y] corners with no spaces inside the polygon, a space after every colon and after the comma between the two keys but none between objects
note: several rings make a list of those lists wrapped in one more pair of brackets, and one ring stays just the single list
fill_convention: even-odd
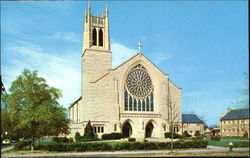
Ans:
[{"label": "long low clipped green hedge along the sidewalk before the church", "polygon": [[[112,150],[152,150],[152,149],[170,149],[170,142],[121,142],[114,145],[109,143],[48,143],[40,144],[35,147],[36,150],[47,151],[112,151]],[[183,148],[206,148],[207,141],[176,141],[175,149]]]}]

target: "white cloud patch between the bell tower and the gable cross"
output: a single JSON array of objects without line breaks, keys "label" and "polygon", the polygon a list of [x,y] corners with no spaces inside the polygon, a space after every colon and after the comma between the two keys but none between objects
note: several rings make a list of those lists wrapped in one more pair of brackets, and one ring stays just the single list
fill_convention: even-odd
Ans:
[{"label": "white cloud patch between the bell tower and the gable cross", "polygon": [[137,53],[136,49],[128,48],[120,43],[111,43],[112,67],[116,67]]}]

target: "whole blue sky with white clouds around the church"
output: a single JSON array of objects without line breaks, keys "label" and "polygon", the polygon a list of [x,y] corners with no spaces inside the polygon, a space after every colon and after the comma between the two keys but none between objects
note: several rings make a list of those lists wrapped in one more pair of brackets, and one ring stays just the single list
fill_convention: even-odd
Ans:
[{"label": "whole blue sky with white clouds around the church", "polygon": [[[248,72],[247,1],[93,1],[109,6],[113,67],[142,52],[182,88],[183,113],[208,125],[242,99]],[[1,2],[1,68],[6,89],[24,68],[80,96],[80,55],[87,1]]]}]

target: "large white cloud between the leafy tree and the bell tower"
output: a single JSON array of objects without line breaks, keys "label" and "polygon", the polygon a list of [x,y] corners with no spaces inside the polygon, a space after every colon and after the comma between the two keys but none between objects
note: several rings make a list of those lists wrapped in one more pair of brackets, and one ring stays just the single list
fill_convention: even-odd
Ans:
[{"label": "large white cloud between the leafy tree and the bell tower", "polygon": [[75,56],[72,56],[73,53],[56,56],[45,52],[38,45],[24,41],[8,46],[4,52],[8,52],[3,59],[8,60],[8,65],[3,65],[3,82],[6,89],[23,69],[28,68],[38,70],[38,75],[44,77],[50,86],[62,91],[63,97],[59,102],[65,107],[81,95],[81,66],[78,53],[75,53]]}]

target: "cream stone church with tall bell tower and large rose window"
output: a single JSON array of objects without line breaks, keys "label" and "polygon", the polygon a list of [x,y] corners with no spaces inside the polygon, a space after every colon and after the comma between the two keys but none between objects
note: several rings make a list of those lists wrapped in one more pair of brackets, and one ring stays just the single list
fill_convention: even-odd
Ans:
[{"label": "cream stone church with tall bell tower and large rose window", "polygon": [[[81,135],[90,120],[100,138],[104,133],[120,132],[124,137],[164,138],[170,116],[174,130],[180,132],[181,88],[170,81],[139,49],[138,54],[112,68],[108,8],[102,16],[84,18],[81,55],[81,97],[69,107],[70,137]],[[169,108],[169,98],[174,109]],[[172,115],[171,115],[172,114]]]}]

